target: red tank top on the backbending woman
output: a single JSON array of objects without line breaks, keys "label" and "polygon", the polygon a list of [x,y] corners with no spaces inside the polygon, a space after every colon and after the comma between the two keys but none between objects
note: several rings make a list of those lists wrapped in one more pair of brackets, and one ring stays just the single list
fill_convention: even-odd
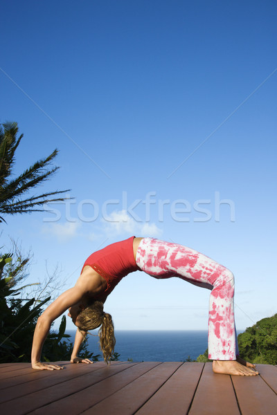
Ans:
[{"label": "red tank top on the backbending woman", "polygon": [[[125,241],[111,243],[111,245],[93,252],[84,262],[84,266],[91,266],[107,281],[105,294],[109,295],[125,275],[141,270],[134,260],[133,241],[134,237],[131,237]],[[102,293],[97,297],[101,295]]]}]

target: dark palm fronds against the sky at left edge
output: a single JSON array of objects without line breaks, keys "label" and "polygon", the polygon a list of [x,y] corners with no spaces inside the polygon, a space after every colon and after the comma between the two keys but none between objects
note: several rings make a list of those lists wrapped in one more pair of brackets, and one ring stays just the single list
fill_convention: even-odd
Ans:
[{"label": "dark palm fronds against the sky at left edge", "polygon": [[[12,165],[15,163],[15,151],[23,137],[23,134],[21,134],[17,138],[17,133],[17,122],[0,124],[0,214],[44,211],[42,208],[44,203],[66,199],[62,197],[48,199],[49,196],[69,192],[69,190],[62,190],[40,194],[39,196],[29,196],[24,199],[26,197],[24,195],[33,187],[46,181],[59,169],[57,166],[46,169],[57,156],[58,151],[55,149],[50,156],[38,160],[17,178],[10,179]],[[5,220],[0,216],[0,222],[2,221]]]}]

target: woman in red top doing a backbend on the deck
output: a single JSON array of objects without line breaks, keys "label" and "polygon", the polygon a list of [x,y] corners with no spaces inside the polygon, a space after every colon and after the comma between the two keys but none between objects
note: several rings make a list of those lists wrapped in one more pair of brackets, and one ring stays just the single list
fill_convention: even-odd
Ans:
[{"label": "woman in red top doing a backbend on the deck", "polygon": [[62,369],[40,362],[42,346],[51,323],[69,308],[78,330],[71,362],[91,363],[78,358],[78,350],[88,330],[101,326],[100,348],[105,361],[114,352],[114,325],[103,311],[107,295],[128,273],[143,270],[157,279],[179,277],[211,290],[208,319],[208,357],[218,374],[256,376],[255,365],[238,356],[233,312],[234,279],[224,266],[193,249],[152,238],[131,237],[94,252],[85,261],[73,288],[65,291],[37,320],[33,338],[33,369]]}]

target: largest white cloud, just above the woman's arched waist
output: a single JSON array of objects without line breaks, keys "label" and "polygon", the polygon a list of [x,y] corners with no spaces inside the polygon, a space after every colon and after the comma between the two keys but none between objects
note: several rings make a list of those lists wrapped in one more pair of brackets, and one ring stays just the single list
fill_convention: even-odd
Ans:
[{"label": "largest white cloud, just above the woman's arched waist", "polygon": [[114,210],[105,219],[106,234],[136,234],[143,237],[158,237],[162,234],[162,230],[155,223],[137,222],[132,216],[127,214],[126,210]]}]

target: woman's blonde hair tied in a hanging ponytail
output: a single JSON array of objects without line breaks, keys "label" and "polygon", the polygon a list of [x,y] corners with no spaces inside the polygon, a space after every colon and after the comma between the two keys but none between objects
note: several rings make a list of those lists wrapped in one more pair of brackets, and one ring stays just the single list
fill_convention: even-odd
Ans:
[{"label": "woman's blonde hair tied in a hanging ponytail", "polygon": [[99,335],[100,349],[103,353],[103,358],[106,363],[111,360],[114,354],[114,346],[116,345],[116,338],[114,337],[114,323],[111,315],[105,313],[103,310],[103,303],[94,301],[91,305],[84,308],[78,315],[80,322],[80,330],[88,331],[97,329]]}]

